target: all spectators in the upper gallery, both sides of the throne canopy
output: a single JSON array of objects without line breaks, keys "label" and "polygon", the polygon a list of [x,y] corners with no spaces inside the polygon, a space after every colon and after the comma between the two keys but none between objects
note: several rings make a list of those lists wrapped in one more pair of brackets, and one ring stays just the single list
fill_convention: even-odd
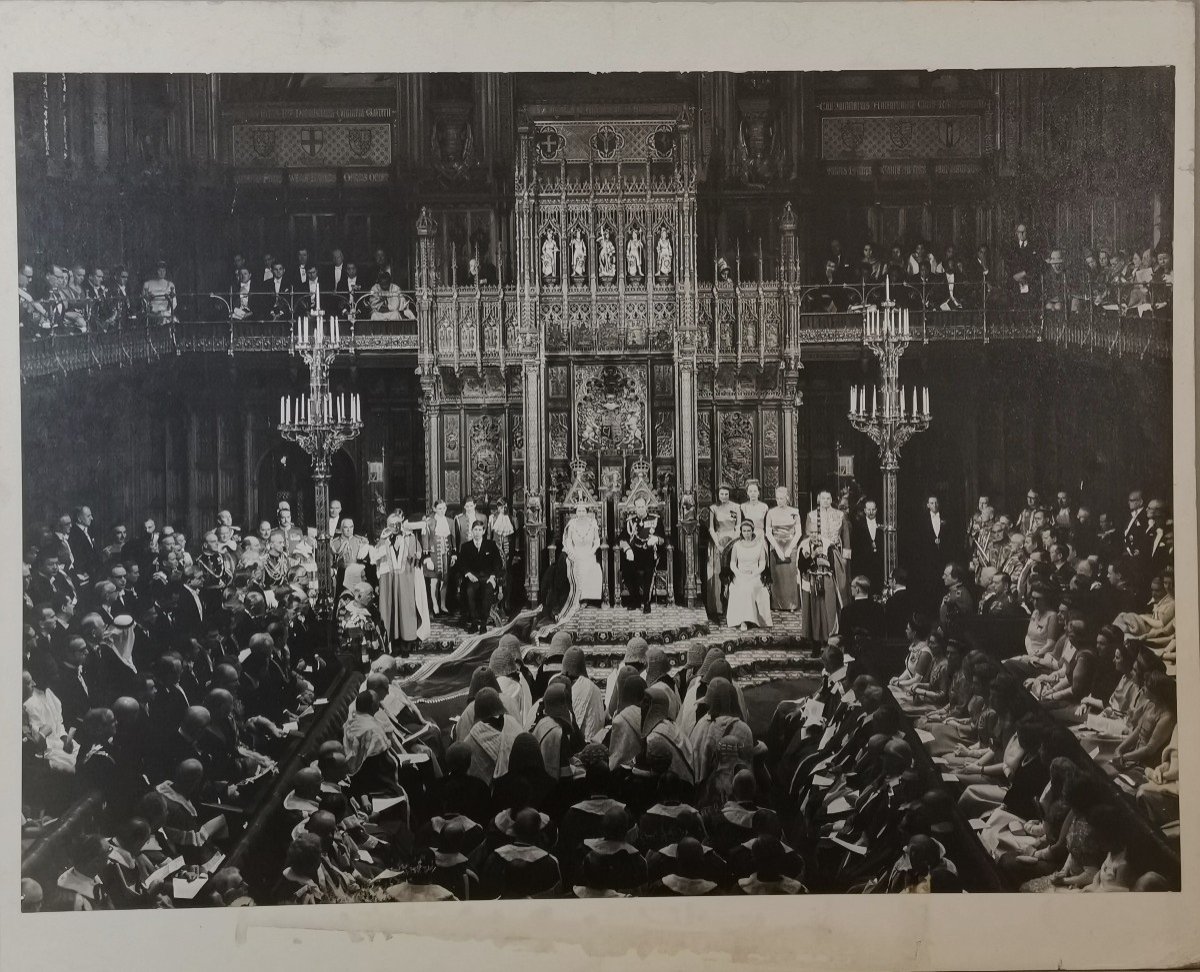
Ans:
[{"label": "all spectators in the upper gallery, both sides of the throne canopy", "polygon": [[[733,281],[725,259],[716,282]],[[454,277],[456,284],[496,282],[493,264],[478,256]],[[802,311],[841,313],[889,296],[914,311],[1013,307],[1073,314],[1170,318],[1174,269],[1166,245],[1070,251],[1043,250],[1027,227],[1015,227],[998,253],[986,246],[958,252],[953,245],[917,241],[906,246],[864,242],[858,252],[829,241],[827,256],[802,292]],[[232,323],[293,320],[320,307],[350,320],[413,322],[415,305],[404,293],[383,250],[370,260],[348,260],[335,248],[326,259],[301,248],[292,258],[272,252],[260,260],[234,253],[228,276],[204,294],[181,294],[170,269],[158,260],[138,277],[127,266],[49,262],[17,268],[20,332],[104,332],[180,319]]]}]

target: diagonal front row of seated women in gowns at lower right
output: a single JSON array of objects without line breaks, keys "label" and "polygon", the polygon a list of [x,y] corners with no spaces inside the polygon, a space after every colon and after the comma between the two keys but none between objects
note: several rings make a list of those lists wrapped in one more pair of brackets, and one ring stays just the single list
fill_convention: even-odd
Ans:
[{"label": "diagonal front row of seated women in gowns at lower right", "polygon": [[[1154,698],[1169,696],[1174,722],[1174,683],[1162,661],[1114,632],[1104,634],[1120,644],[1121,690],[1114,694],[1135,694],[1145,682]],[[980,832],[1006,886],[1026,892],[1166,887],[1169,878],[1130,847],[1129,808],[1096,773],[1088,758],[1094,750],[1085,754],[1061,719],[1032,702],[1007,665],[940,630],[928,643],[938,670],[934,677],[913,677],[906,666],[890,688],[917,720],[917,736],[946,779],[962,787],[959,810]]]}]

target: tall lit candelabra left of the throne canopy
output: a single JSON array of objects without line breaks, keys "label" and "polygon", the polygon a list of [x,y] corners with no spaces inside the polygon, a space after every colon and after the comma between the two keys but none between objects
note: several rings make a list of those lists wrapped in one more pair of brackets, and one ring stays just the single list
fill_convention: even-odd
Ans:
[{"label": "tall lit candelabra left of the throne canopy", "polygon": [[335,617],[332,554],[329,536],[329,474],[334,455],[362,431],[358,394],[334,395],[329,390],[329,368],[342,343],[341,324],[323,313],[301,317],[292,331],[292,354],[308,366],[308,394],[280,398],[280,433],[296,443],[312,460],[312,482],[317,512],[317,600],[316,616],[325,622]]}]

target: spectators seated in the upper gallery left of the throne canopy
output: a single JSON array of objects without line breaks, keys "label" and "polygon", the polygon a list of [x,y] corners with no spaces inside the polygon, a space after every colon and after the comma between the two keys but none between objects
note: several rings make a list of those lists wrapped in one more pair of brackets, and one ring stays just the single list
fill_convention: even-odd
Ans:
[{"label": "spectators seated in the upper gallery left of the throne canopy", "polygon": [[[52,262],[41,272],[38,278],[26,260],[17,268],[24,338],[180,320],[180,294],[163,260],[155,264],[140,286],[131,281],[130,270],[122,265],[106,269],[102,264]],[[295,260],[266,253],[258,268],[236,253],[229,276],[197,296],[187,307],[188,314],[212,319],[220,313],[238,323],[290,322],[318,307],[328,316],[349,320],[416,320],[413,301],[401,290],[382,250],[361,270],[347,262],[341,250],[331,251],[324,263],[310,258],[307,250],[300,250]]]}]

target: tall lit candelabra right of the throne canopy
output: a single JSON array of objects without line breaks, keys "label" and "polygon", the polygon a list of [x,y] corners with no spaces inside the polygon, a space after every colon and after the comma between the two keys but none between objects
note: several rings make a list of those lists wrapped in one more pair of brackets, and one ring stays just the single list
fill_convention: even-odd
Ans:
[{"label": "tall lit candelabra right of the throne canopy", "polygon": [[[900,472],[900,449],[917,432],[929,428],[929,388],[906,390],[900,384],[900,358],[908,347],[908,311],[895,306],[887,298],[878,307],[868,306],[863,313],[863,344],[880,361],[882,383],[870,390],[870,412],[866,409],[865,385],[850,390],[850,422],[871,437],[880,450],[883,470],[883,578],[892,590],[896,566],[896,478]],[[911,400],[911,407],[910,407]]]}]

